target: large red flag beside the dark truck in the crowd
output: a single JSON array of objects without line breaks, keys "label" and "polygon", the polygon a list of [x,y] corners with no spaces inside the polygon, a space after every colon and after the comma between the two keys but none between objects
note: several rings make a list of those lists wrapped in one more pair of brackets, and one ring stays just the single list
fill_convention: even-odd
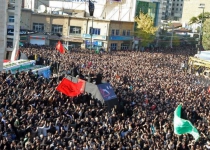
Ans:
[{"label": "large red flag beside the dark truck in the crowd", "polygon": [[70,97],[74,97],[80,94],[82,84],[74,83],[64,78],[57,86],[56,90]]}]

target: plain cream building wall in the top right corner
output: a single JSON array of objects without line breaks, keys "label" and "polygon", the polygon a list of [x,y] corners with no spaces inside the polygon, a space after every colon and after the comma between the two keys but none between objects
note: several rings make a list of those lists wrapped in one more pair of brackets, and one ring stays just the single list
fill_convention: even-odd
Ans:
[{"label": "plain cream building wall in the top right corner", "polygon": [[209,0],[185,0],[182,12],[182,23],[188,24],[192,17],[196,17],[203,12],[202,8],[199,8],[200,4],[205,4],[204,11],[209,12],[210,1]]}]

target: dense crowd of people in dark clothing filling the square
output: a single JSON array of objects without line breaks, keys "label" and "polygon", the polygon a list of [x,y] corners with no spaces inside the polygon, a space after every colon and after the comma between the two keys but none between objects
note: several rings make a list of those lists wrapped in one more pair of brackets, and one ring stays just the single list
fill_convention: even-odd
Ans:
[{"label": "dense crowd of people in dark clothing filling the square", "polygon": [[[21,52],[49,65],[52,77],[45,79],[31,71],[0,73],[0,149],[210,149],[207,87],[181,67],[195,53],[193,48],[100,56],[80,50],[62,55],[49,47]],[[84,77],[98,72],[118,97],[119,106],[112,111],[89,93],[67,97],[56,91],[67,74]],[[198,141],[173,132],[173,112],[180,103],[200,133]]]}]

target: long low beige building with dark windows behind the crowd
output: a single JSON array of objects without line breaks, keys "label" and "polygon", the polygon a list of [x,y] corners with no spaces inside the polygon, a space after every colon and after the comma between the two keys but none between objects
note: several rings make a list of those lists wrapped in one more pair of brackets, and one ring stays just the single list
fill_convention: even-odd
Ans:
[{"label": "long low beige building with dark windows behind the crowd", "polygon": [[[93,25],[93,29],[92,29]],[[38,45],[55,45],[58,40],[68,47],[89,48],[91,32],[94,47],[106,50],[129,49],[132,46],[134,22],[110,21],[89,17],[72,17],[22,10],[21,28],[37,31],[29,35],[29,42]]]}]

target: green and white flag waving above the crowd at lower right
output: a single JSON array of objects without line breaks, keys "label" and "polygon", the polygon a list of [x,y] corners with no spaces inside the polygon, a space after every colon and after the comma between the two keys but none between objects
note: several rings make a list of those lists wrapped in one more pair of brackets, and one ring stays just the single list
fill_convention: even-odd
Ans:
[{"label": "green and white flag waving above the crowd at lower right", "polygon": [[200,137],[198,130],[190,121],[181,118],[181,110],[182,106],[179,105],[174,112],[174,133],[178,135],[189,133],[198,140]]}]

